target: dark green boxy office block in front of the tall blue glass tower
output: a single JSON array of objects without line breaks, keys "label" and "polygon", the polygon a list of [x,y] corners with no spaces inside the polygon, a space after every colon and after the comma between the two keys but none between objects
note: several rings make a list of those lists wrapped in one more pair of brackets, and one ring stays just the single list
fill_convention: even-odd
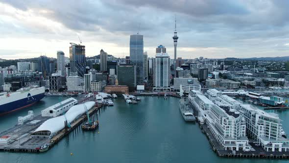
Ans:
[{"label": "dark green boxy office block in front of the tall blue glass tower", "polygon": [[130,92],[136,88],[136,66],[132,64],[121,64],[118,66],[118,82],[127,85]]}]

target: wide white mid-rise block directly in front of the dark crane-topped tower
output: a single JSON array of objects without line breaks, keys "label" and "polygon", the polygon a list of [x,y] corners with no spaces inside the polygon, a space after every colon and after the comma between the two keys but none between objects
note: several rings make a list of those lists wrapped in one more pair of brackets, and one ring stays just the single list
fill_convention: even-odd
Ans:
[{"label": "wide white mid-rise block directly in front of the dark crane-topped tower", "polygon": [[67,91],[83,91],[83,85],[81,85],[81,79],[77,76],[77,73],[71,73],[69,77],[66,79],[67,82]]}]

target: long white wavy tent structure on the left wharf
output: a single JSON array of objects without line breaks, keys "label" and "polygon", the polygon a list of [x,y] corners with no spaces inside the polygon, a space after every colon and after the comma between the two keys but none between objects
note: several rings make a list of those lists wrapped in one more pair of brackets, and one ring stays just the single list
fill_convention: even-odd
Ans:
[{"label": "long white wavy tent structure on the left wharf", "polygon": [[[86,112],[86,109],[90,110],[95,106],[95,102],[90,101],[84,104],[73,106],[64,115],[57,116],[45,121],[40,125],[32,134],[31,137],[43,137],[51,138],[57,134],[60,130],[64,129],[64,122],[67,120],[68,123],[72,123],[79,115]],[[86,106],[86,108],[85,108]]]}]

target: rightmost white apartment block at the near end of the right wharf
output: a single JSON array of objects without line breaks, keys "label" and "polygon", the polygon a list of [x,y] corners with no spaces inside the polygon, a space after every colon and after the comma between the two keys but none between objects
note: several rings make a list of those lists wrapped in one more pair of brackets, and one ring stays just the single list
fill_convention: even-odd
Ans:
[{"label": "rightmost white apartment block at the near end of the right wharf", "polygon": [[251,105],[240,105],[246,122],[246,134],[258,141],[266,151],[289,151],[289,139],[283,137],[278,114],[268,113]]}]

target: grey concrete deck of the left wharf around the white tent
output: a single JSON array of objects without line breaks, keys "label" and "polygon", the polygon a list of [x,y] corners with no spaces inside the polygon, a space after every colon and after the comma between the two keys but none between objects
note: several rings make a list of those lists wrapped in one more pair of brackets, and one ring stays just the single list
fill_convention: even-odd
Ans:
[{"label": "grey concrete deck of the left wharf around the white tent", "polygon": [[[89,110],[89,115],[92,119],[95,119],[100,114],[101,109],[106,109],[106,106],[96,106]],[[97,114],[97,111],[99,113]],[[42,117],[37,115],[33,120],[26,121],[23,125],[15,125],[12,128],[0,133],[0,136],[10,136],[11,142],[8,145],[0,144],[0,151],[7,152],[39,152],[39,147],[50,144],[51,148],[54,144],[59,142],[64,136],[68,136],[73,130],[80,130],[80,125],[86,122],[86,113],[81,115],[78,119],[71,123],[71,128],[64,128],[51,139],[48,138],[36,138],[30,135],[35,131],[41,124],[43,124],[50,117]]]}]

